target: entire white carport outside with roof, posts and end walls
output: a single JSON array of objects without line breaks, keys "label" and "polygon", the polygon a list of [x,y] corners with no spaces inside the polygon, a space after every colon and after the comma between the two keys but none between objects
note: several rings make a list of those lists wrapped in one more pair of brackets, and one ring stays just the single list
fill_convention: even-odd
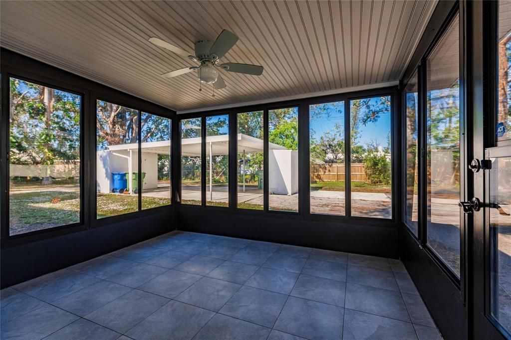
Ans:
[{"label": "entire white carport outside with roof, posts and end walls", "polygon": [[[239,133],[237,136],[238,142],[238,153],[243,154],[243,163],[245,163],[245,155],[251,153],[262,153],[264,150],[264,141],[259,138],[247,136]],[[277,183],[276,185],[270,184],[270,192],[283,193],[286,195],[292,195],[296,192],[294,190],[297,187],[296,180],[293,179],[295,176],[291,176],[292,169],[297,170],[297,153],[295,151],[288,150],[281,145],[274,143],[268,144],[268,149],[271,154],[269,157],[270,168],[273,171],[280,173],[280,176],[275,178],[280,179],[283,183]],[[280,152],[275,152],[275,151]],[[142,151],[142,168],[146,173],[144,179],[144,188],[156,188],[157,187],[157,155],[158,154],[170,154],[171,141],[152,141],[143,142],[141,144]],[[206,137],[206,155],[227,155],[229,153],[229,136],[208,136]],[[289,155],[287,155],[289,153]],[[185,138],[181,140],[181,155],[182,156],[200,156],[201,155],[201,138]],[[289,163],[289,164],[288,164]],[[293,164],[292,164],[293,163]],[[131,183],[132,172],[138,171],[138,144],[120,144],[110,145],[107,150],[97,152],[97,168],[98,168],[98,191],[99,192],[110,192],[112,189],[111,173],[112,172],[127,172],[128,181]],[[245,164],[243,164],[242,171],[245,172]],[[213,158],[209,157],[210,177],[208,179],[210,186],[210,199],[213,195]],[[243,174],[245,175],[245,174]],[[245,180],[245,176],[243,181]],[[270,174],[270,178],[272,178]],[[292,185],[291,182],[296,181],[296,186]],[[271,187],[275,187],[272,189]],[[278,189],[280,188],[280,189]]]}]

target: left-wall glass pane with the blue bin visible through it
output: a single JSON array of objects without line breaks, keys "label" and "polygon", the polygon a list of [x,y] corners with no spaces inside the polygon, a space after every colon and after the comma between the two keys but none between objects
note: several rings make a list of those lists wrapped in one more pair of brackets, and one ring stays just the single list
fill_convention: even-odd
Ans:
[{"label": "left-wall glass pane with the blue bin visible through it", "polygon": [[97,218],[138,211],[138,111],[96,103]]}]

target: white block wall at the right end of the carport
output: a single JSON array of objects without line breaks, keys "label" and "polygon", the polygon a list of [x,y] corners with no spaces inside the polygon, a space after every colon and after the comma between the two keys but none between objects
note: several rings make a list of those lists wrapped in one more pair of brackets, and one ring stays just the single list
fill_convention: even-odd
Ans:
[{"label": "white block wall at the right end of the carport", "polygon": [[298,153],[292,150],[269,150],[269,193],[293,195],[298,192]]}]

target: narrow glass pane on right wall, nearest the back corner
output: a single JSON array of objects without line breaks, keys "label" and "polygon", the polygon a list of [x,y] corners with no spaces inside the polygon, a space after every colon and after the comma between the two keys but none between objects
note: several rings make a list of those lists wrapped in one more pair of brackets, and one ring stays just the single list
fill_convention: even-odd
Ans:
[{"label": "narrow glass pane on right wall, nearest the back corner", "polygon": [[417,74],[415,73],[405,87],[406,101],[406,207],[405,224],[417,236],[417,205],[419,195],[417,192],[417,180],[419,179],[418,153],[419,139],[417,138],[417,126],[419,102],[417,101]]}]

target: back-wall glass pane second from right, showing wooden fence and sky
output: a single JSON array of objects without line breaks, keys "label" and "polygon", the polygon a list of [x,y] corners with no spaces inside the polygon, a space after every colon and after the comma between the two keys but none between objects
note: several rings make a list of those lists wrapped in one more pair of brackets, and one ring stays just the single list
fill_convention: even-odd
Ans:
[{"label": "back-wall glass pane second from right, showing wooden fence and sky", "polygon": [[309,106],[310,210],[345,215],[344,102]]}]

